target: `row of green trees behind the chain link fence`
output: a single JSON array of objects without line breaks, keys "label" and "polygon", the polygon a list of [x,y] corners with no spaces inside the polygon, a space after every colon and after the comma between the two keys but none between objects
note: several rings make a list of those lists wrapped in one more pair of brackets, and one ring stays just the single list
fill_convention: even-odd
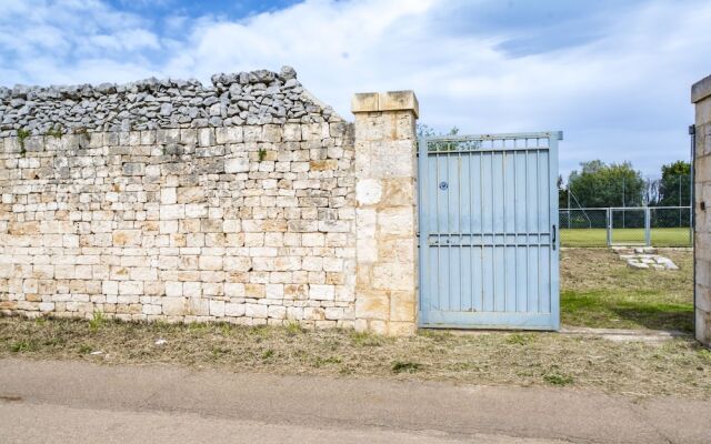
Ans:
[{"label": "row of green trees behind the chain link fence", "polygon": [[689,206],[691,164],[680,160],[661,168],[659,179],[644,179],[630,162],[582,162],[563,183],[558,180],[559,206]]}]

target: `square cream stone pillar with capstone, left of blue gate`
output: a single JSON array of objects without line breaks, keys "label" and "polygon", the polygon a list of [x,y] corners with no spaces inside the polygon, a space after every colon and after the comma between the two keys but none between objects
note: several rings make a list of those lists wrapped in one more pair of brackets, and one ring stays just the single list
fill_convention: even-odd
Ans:
[{"label": "square cream stone pillar with capstone, left of blue gate", "polygon": [[414,333],[417,133],[412,91],[356,94],[356,329]]}]

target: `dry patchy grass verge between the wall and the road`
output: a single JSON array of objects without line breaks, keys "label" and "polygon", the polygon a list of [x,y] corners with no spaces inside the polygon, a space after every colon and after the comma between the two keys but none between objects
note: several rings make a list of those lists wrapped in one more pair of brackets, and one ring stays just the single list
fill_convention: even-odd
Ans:
[{"label": "dry patchy grass verge between the wall and the road", "polygon": [[[156,341],[163,339],[162,345]],[[92,355],[92,351],[101,351]],[[231,324],[0,317],[0,357],[183,365],[234,372],[597,389],[711,398],[711,352],[691,339],[618,343],[557,333],[422,331],[382,337]]]}]

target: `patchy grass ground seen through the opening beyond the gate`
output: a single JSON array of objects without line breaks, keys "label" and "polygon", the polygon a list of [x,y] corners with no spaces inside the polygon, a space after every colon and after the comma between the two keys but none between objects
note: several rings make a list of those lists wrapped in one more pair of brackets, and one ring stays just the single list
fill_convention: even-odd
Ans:
[{"label": "patchy grass ground seen through the opening beyond the gate", "polygon": [[660,250],[678,271],[634,270],[608,249],[561,251],[561,322],[693,331],[693,253]]}]

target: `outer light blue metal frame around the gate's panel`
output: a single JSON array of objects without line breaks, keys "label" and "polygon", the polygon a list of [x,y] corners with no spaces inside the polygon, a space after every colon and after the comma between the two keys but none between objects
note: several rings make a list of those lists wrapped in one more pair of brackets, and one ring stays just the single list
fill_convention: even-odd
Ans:
[{"label": "outer light blue metal frame around the gate's panel", "polygon": [[[424,168],[428,159],[428,142],[430,141],[451,141],[451,142],[465,142],[472,140],[501,140],[501,139],[548,139],[548,152],[549,152],[549,221],[551,222],[551,254],[554,254],[553,260],[550,263],[550,291],[551,291],[551,311],[549,324],[542,325],[539,323],[533,324],[519,324],[507,325],[498,323],[484,323],[478,325],[461,325],[461,324],[430,324],[427,320],[427,314],[423,310],[424,301],[429,301],[429,295],[424,292],[424,270],[429,272],[423,265],[423,254],[428,249],[427,238],[423,233],[429,233],[429,226],[427,224],[427,218],[424,216],[424,210],[422,205],[422,184],[424,178]],[[539,331],[559,331],[560,330],[560,221],[559,221],[559,205],[558,205],[558,142],[563,140],[562,131],[542,131],[542,132],[521,132],[521,133],[487,133],[487,134],[471,134],[471,135],[451,135],[451,137],[421,137],[418,138],[418,268],[420,270],[418,278],[418,327],[421,329],[454,329],[454,330],[539,330]],[[475,150],[473,150],[475,152]],[[504,150],[502,150],[504,151]],[[554,173],[553,173],[554,172]]]}]

